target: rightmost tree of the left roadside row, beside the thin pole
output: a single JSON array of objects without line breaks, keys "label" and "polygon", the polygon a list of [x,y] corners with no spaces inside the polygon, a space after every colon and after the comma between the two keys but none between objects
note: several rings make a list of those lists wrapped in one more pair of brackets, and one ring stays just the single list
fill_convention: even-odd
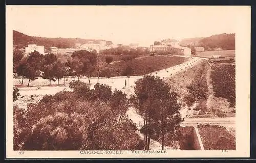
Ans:
[{"label": "rightmost tree of the left roadside row, beside the thin pole", "polygon": [[72,64],[70,67],[73,69],[75,67],[74,70],[76,71],[76,74],[86,75],[88,77],[89,84],[91,84],[90,77],[97,67],[97,54],[95,51],[75,51],[72,53],[71,57],[73,58],[72,60],[75,60],[76,64]]}]

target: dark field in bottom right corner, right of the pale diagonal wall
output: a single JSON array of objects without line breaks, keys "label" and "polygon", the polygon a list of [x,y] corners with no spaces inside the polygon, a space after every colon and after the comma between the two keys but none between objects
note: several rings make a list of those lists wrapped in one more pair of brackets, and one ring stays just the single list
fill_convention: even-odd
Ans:
[{"label": "dark field in bottom right corner, right of the pale diagonal wall", "polygon": [[206,150],[236,150],[236,138],[225,127],[198,125],[198,130]]}]

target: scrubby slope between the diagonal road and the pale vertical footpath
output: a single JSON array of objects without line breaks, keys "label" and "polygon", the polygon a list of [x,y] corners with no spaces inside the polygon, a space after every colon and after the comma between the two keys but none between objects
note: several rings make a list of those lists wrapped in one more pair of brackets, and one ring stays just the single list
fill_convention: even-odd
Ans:
[{"label": "scrubby slope between the diagonal road and the pale vertical footpath", "polygon": [[184,72],[177,73],[168,81],[174,91],[179,94],[179,100],[183,108],[189,110],[190,114],[199,110],[203,110],[201,113],[204,112],[206,114],[204,103],[208,96],[206,83],[207,69],[208,63],[202,61]]}]

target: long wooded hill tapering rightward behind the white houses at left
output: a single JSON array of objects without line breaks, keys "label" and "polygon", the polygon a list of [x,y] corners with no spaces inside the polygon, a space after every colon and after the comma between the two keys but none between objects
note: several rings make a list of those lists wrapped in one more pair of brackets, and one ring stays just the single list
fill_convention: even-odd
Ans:
[{"label": "long wooded hill tapering rightward behind the white houses at left", "polygon": [[[95,40],[95,39],[80,39],[80,38],[46,38],[46,37],[34,37],[28,36],[18,31],[13,31],[13,45],[16,48],[25,48],[28,44],[45,45],[45,49],[49,49],[52,46],[58,48],[74,47],[76,43],[86,44],[89,41],[93,43],[99,43],[99,41],[106,40]],[[112,41],[107,41],[107,44],[113,44]]]}]

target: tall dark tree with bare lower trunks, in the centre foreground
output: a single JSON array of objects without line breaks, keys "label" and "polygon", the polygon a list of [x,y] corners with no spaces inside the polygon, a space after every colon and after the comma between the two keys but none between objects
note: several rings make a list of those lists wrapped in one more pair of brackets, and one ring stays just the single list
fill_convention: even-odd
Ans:
[{"label": "tall dark tree with bare lower trunks, in the centre foreground", "polygon": [[151,138],[158,135],[161,135],[163,149],[166,132],[175,134],[175,127],[182,122],[177,94],[170,92],[170,87],[160,77],[145,75],[136,82],[135,105],[144,118],[141,132],[146,149],[150,149]]}]

